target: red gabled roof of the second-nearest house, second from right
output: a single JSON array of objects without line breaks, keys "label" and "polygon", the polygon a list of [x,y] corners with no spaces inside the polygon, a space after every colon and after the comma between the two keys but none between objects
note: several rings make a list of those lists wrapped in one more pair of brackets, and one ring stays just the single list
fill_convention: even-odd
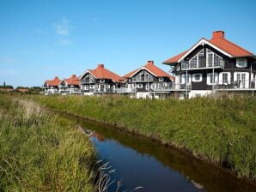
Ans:
[{"label": "red gabled roof of the second-nearest house, second from right", "polygon": [[148,70],[149,73],[151,73],[152,75],[155,75],[156,77],[168,77],[172,81],[175,80],[174,76],[169,75],[167,72],[165,72],[162,69],[156,67],[153,61],[148,61],[148,63],[143,65],[143,67],[141,67],[139,69],[136,69],[136,70],[132,70],[129,74],[126,74],[123,77],[124,78],[130,78],[131,76],[137,74],[137,72],[142,70],[142,69]]}]

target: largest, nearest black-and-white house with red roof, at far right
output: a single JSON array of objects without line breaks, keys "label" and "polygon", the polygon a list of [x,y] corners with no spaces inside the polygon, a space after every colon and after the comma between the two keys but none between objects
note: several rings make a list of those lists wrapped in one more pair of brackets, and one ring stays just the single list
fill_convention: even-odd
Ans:
[{"label": "largest, nearest black-and-white house with red roof, at far right", "polygon": [[211,39],[200,39],[163,63],[172,67],[176,83],[185,86],[185,93],[192,98],[216,92],[254,91],[255,61],[252,52],[230,42],[223,31],[216,31]]}]

